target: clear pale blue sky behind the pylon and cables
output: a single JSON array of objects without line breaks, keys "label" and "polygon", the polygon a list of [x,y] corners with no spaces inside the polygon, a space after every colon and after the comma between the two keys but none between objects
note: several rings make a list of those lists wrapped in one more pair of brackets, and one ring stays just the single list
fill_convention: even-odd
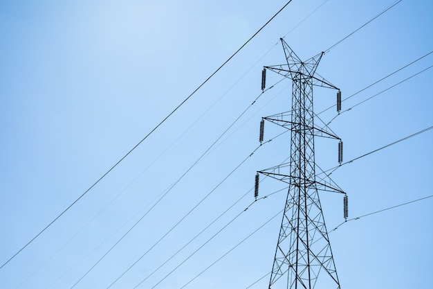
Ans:
[{"label": "clear pale blue sky behind the pylon and cables", "polygon": [[[291,110],[291,81],[268,71],[267,87],[275,86],[261,94],[261,69],[284,64],[280,37],[307,60],[393,3],[293,0],[4,265],[0,288],[229,289],[256,281],[250,288],[267,288],[286,189],[263,179],[259,197],[269,196],[257,202],[251,190],[257,170],[290,155],[290,132],[277,137],[284,129],[271,123],[264,139],[273,141],[257,147],[261,117]],[[284,4],[1,1],[0,263]],[[343,99],[421,58],[343,101],[330,127],[344,141],[344,161],[433,125],[432,15],[432,1],[400,1],[324,54],[317,73]],[[335,105],[335,91],[317,87],[314,99],[318,114]],[[328,123],[336,115],[333,107],[319,117]],[[333,181],[349,196],[349,219],[433,195],[432,143],[429,130],[335,170]],[[316,139],[317,166],[337,166],[337,147]],[[342,288],[432,288],[433,198],[336,230],[344,222],[342,195],[320,192],[320,198]]]}]

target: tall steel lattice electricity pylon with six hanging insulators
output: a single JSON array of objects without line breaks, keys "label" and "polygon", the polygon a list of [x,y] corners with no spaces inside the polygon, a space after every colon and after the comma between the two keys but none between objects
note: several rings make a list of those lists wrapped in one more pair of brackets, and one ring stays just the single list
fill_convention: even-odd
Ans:
[{"label": "tall steel lattice electricity pylon with six hanging insulators", "polygon": [[340,288],[320,205],[318,190],[344,194],[344,218],[347,218],[347,195],[325,173],[316,174],[314,138],[338,139],[338,161],[342,162],[342,141],[327,125],[315,127],[313,86],[337,89],[338,112],[340,90],[315,73],[324,54],[301,61],[281,39],[286,64],[264,67],[261,89],[265,86],[266,69],[275,71],[293,82],[292,110],[264,117],[260,125],[263,141],[264,120],[291,130],[291,157],[287,164],[260,170],[256,175],[255,197],[259,173],[288,183],[288,194],[279,231],[269,288]]}]

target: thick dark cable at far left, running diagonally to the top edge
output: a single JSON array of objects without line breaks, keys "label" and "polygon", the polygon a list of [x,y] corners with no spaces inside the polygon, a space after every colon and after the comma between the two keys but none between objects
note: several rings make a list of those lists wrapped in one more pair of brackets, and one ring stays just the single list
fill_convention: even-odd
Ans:
[{"label": "thick dark cable at far left, running diagonally to the top edge", "polygon": [[167,116],[165,116],[165,118],[163,119],[163,121],[160,121],[160,123],[158,123],[158,125],[156,125],[156,127],[154,129],[152,129],[143,139],[141,139],[141,141],[139,141],[136,146],[133,146],[133,148],[131,148],[131,150],[129,150],[129,152],[127,152],[126,155],[124,155],[118,162],[116,162],[116,164],[114,164],[109,170],[107,170],[106,173],[104,173],[104,175],[102,175],[102,177],[100,177],[94,184],[92,184],[89,189],[87,189],[86,191],[84,191],[84,193],[82,193],[82,195],[80,195],[80,197],[77,198],[77,200],[75,200],[74,202],[72,202],[72,204],[70,204],[64,211],[62,211],[62,213],[59,214],[59,216],[57,216],[53,221],[51,221],[48,225],[46,225],[46,227],[44,227],[44,229],[42,229],[42,231],[39,231],[39,233],[33,237],[26,245],[24,245],[24,247],[21,247],[21,249],[19,249],[18,252],[16,252],[12,257],[10,257],[10,259],[8,259],[8,261],[6,261],[5,263],[3,263],[3,265],[0,266],[0,269],[3,268],[6,264],[8,264],[12,259],[15,258],[15,256],[17,256],[22,250],[24,250],[28,245],[30,245],[30,243],[33,242],[33,240],[35,240],[37,237],[39,237],[42,233],[44,233],[44,231],[46,231],[46,229],[48,229],[48,227],[50,227],[51,225],[53,225],[53,223],[55,221],[57,221],[61,216],[63,216],[64,213],[66,213],[66,211],[68,211],[69,209],[71,209],[71,207],[73,207],[73,205],[75,203],[77,203],[82,197],[84,197],[84,195],[86,195],[86,193],[88,193],[91,189],[93,189],[94,186],[96,186],[96,184],[98,184],[106,175],[108,175],[111,170],[113,170],[114,168],[116,168],[116,166],[118,166],[118,164],[120,164],[121,161],[123,161],[128,155],[131,154],[131,152],[133,152],[133,150],[135,150],[138,146],[140,146],[140,144],[145,141],[145,139],[147,139],[147,137],[149,137],[153,132],[155,132],[160,125],[162,125],[163,123],[165,123],[165,121],[167,121],[167,119],[169,119],[170,116],[172,116],[172,114],[174,114],[174,112],[176,112],[184,103],[187,102],[188,99],[190,99],[195,93],[196,91],[198,91],[199,89],[201,89],[201,87],[203,87],[203,85],[205,85],[206,82],[208,82],[210,80],[210,78],[212,78],[218,71],[220,71],[225,64],[227,64],[230,60],[232,60],[232,58],[234,58],[235,55],[237,55],[237,53],[239,53],[239,51],[241,51],[241,49],[243,49],[243,47],[245,47],[257,34],[260,33],[261,30],[263,30],[269,23],[270,21],[272,21],[275,17],[277,17],[277,15],[279,15],[280,12],[282,12],[282,10],[284,10],[284,8],[286,8],[286,6],[288,6],[289,3],[291,3],[292,0],[289,0],[280,10],[278,10],[277,13],[275,13],[275,15],[273,15],[273,17],[271,17],[263,26],[261,26],[261,28],[259,28],[259,30],[257,30],[256,33],[254,33],[254,35],[252,35],[236,52],[234,52],[230,58],[228,58],[228,60],[225,60],[225,62],[223,62],[223,64],[221,64],[221,66],[216,69],[208,78],[206,78],[205,81],[203,81],[201,83],[201,85],[199,85],[199,87],[197,87],[196,89],[194,89],[194,91],[192,91],[192,93],[187,96],[187,98],[185,98],[185,100],[183,100],[172,112],[170,112]]}]

